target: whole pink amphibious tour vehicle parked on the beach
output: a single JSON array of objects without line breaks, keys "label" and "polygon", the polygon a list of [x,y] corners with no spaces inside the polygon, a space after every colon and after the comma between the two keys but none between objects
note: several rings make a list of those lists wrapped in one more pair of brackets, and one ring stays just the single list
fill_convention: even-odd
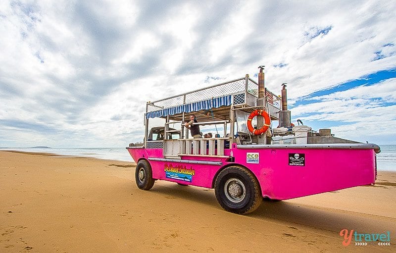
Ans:
[{"label": "whole pink amphibious tour vehicle parked on the beach", "polygon": [[[245,214],[263,198],[288,200],[373,185],[380,148],[336,138],[330,129],[315,132],[299,120],[295,126],[285,85],[280,99],[264,88],[259,68],[258,83],[246,75],[148,102],[144,142],[126,148],[137,162],[137,186],[149,190],[159,179],[214,188],[225,210]],[[191,115],[200,130],[215,129],[214,137],[189,138],[185,122]],[[271,128],[267,118],[279,126]]]}]

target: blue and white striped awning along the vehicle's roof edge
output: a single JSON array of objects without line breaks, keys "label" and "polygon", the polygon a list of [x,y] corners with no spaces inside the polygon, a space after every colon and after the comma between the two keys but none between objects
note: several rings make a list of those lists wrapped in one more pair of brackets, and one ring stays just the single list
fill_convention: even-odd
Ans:
[{"label": "blue and white striped awning along the vehicle's roof edge", "polygon": [[192,112],[200,110],[209,110],[211,108],[218,108],[220,106],[231,105],[231,95],[220,98],[213,98],[209,100],[182,104],[175,107],[161,109],[157,111],[150,111],[146,113],[146,118],[159,118],[168,115],[175,115],[182,112]]}]

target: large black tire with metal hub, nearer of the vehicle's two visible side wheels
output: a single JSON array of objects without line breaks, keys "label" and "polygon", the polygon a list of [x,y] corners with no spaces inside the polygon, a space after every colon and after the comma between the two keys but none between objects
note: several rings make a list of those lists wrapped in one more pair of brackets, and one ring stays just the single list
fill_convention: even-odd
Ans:
[{"label": "large black tire with metal hub, nearer of the vehicle's two visible side wheels", "polygon": [[216,199],[225,210],[238,214],[254,211],[262,202],[260,185],[244,167],[222,170],[214,182]]}]

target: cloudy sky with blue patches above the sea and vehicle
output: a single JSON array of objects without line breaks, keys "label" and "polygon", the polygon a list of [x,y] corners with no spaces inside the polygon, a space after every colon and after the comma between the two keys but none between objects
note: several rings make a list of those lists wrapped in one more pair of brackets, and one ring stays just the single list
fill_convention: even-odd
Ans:
[{"label": "cloudy sky with blue patches above the sea and vehicle", "polygon": [[244,77],[396,144],[396,1],[0,1],[0,147],[126,147],[147,101]]}]

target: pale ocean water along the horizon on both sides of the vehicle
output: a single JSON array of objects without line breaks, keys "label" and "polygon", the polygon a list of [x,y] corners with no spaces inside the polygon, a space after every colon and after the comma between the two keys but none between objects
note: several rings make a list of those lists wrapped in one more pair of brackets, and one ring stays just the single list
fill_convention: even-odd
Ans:
[{"label": "pale ocean water along the horizon on both sides of the vehicle", "polygon": [[[377,169],[382,171],[396,171],[396,145],[380,145],[380,148],[381,152],[377,154]],[[133,161],[125,148],[0,148],[0,150],[47,152],[70,156]]]}]

